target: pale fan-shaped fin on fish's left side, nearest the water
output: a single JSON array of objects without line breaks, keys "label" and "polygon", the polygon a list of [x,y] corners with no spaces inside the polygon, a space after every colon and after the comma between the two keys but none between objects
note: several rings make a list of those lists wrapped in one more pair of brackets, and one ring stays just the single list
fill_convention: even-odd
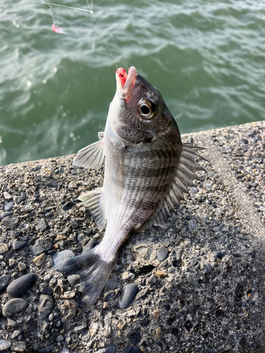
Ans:
[{"label": "pale fan-shaped fin on fish's left side, nearest the water", "polygon": [[105,157],[104,133],[99,132],[98,138],[100,138],[99,141],[78,151],[77,156],[73,160],[73,165],[87,169],[99,169],[102,166]]}]

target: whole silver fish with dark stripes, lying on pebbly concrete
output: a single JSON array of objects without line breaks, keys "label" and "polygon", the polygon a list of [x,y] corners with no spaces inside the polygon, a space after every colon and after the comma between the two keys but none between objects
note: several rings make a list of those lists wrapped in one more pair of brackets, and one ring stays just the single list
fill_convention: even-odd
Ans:
[{"label": "whole silver fish with dark stripes, lying on pebbly concrete", "polygon": [[152,225],[165,227],[196,171],[197,151],[183,144],[177,123],[160,92],[131,66],[116,73],[116,93],[99,140],[78,152],[76,167],[99,169],[105,160],[103,186],[79,196],[105,235],[97,246],[55,266],[81,276],[83,301],[97,301],[131,234]]}]

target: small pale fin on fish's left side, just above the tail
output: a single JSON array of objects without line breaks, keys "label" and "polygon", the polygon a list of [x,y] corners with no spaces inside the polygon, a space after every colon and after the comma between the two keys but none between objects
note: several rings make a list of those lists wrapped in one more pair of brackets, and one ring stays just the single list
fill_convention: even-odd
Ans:
[{"label": "small pale fin on fish's left side, just above the tail", "polygon": [[104,205],[102,202],[102,188],[88,191],[88,193],[83,193],[83,195],[78,197],[78,200],[83,201],[84,206],[90,210],[98,230],[102,232],[107,222]]}]

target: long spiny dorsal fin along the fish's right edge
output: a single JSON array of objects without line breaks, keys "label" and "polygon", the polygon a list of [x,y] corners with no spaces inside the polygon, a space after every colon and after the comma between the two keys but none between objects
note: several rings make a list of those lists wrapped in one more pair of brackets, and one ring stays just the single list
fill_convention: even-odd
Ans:
[{"label": "long spiny dorsal fin along the fish's right edge", "polygon": [[205,160],[204,157],[196,155],[195,151],[204,150],[204,148],[195,147],[191,145],[182,145],[182,152],[177,166],[177,172],[174,181],[172,182],[170,191],[167,193],[165,200],[161,203],[153,213],[153,216],[146,222],[141,231],[151,227],[151,225],[159,225],[165,227],[168,217],[179,204],[179,201],[184,200],[183,193],[188,193],[188,186],[193,186],[192,179],[199,179],[194,171],[206,169],[195,162],[196,157]]}]

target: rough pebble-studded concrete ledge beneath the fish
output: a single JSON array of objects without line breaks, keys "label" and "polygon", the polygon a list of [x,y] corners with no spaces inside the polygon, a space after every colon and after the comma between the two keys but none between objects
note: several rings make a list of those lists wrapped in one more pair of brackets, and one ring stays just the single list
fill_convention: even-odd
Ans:
[{"label": "rough pebble-studded concrete ledge beneath the fish", "polygon": [[[102,238],[76,198],[103,169],[73,169],[73,155],[0,167],[0,352],[264,352],[265,122],[192,138],[208,172],[165,229],[131,236],[90,311],[52,258]],[[138,294],[119,309],[128,284]]]}]

